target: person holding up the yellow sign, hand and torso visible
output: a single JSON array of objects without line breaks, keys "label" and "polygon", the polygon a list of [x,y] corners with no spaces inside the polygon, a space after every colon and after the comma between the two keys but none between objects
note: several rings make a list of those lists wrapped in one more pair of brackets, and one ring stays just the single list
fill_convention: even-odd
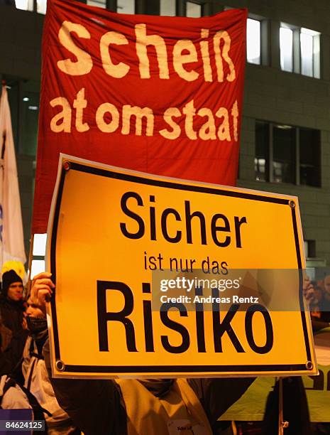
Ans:
[{"label": "person holding up the yellow sign, hand and torso visible", "polygon": [[[45,311],[51,274],[33,279],[31,300]],[[55,379],[48,341],[43,354],[57,401],[85,435],[215,434],[216,422],[254,378]]]}]

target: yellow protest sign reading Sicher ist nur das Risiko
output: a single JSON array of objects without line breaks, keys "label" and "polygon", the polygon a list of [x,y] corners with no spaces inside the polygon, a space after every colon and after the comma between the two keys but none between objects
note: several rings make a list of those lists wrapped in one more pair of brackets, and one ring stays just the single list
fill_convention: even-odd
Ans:
[{"label": "yellow protest sign reading Sicher ist nur das Risiko", "polygon": [[295,197],[62,155],[47,252],[54,374],[317,372],[301,274],[276,273],[304,267],[302,243]]}]

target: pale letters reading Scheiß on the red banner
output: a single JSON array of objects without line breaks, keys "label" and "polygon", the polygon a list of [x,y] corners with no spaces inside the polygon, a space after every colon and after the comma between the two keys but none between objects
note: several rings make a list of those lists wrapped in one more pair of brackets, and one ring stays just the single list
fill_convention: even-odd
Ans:
[{"label": "pale letters reading Schei\u00df on the red banner", "polygon": [[[148,56],[148,47],[152,46],[155,48],[159,71],[158,77],[160,79],[170,79],[168,59],[172,58],[175,73],[177,73],[182,80],[186,80],[187,82],[192,82],[199,77],[199,73],[192,68],[192,64],[197,65],[197,63],[200,63],[201,61],[205,82],[233,82],[236,80],[235,66],[233,65],[233,60],[229,55],[231,37],[229,36],[229,33],[224,30],[217,31],[214,34],[212,38],[214,55],[210,56],[209,29],[201,29],[200,38],[204,41],[199,42],[202,54],[200,59],[196,46],[193,41],[189,39],[181,39],[177,41],[172,48],[172,53],[168,53],[165,39],[160,35],[148,35],[145,23],[136,24],[134,31],[136,55],[138,57],[138,71],[141,79],[152,78],[150,59]],[[75,55],[77,60],[73,61],[70,58],[59,60],[57,62],[57,68],[67,75],[86,75],[92,70],[92,57],[87,53],[87,51],[78,47],[78,45],[73,41],[71,33],[75,33],[77,38],[91,38],[89,31],[86,27],[82,26],[82,24],[63,21],[60,31],[58,32],[58,39],[63,47]],[[79,44],[83,44],[83,42],[79,41]],[[111,31],[101,36],[99,43],[100,58],[103,69],[107,75],[120,79],[129,73],[131,67],[123,62],[114,64],[111,60],[110,54],[111,45],[129,44],[130,42],[126,36],[119,32]],[[185,68],[185,65],[189,64],[190,66]],[[212,75],[212,65],[214,66],[214,76],[216,79],[214,79]],[[225,69],[228,70],[226,73]]]}]

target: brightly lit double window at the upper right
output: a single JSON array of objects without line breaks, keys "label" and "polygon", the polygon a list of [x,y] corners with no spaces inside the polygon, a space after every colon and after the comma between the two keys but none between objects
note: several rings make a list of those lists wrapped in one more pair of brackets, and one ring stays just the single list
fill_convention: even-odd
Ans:
[{"label": "brightly lit double window at the upper right", "polygon": [[308,28],[281,23],[281,70],[320,78],[320,34]]}]

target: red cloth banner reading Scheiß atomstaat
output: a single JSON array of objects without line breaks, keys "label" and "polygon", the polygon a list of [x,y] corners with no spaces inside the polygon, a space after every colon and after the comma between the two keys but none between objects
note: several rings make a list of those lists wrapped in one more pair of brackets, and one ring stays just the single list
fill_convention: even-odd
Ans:
[{"label": "red cloth banner reading Schei\u00df atomstaat", "polygon": [[246,16],[123,15],[48,1],[33,233],[46,231],[60,152],[235,184]]}]

